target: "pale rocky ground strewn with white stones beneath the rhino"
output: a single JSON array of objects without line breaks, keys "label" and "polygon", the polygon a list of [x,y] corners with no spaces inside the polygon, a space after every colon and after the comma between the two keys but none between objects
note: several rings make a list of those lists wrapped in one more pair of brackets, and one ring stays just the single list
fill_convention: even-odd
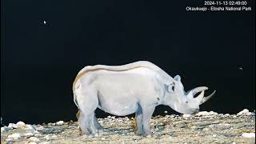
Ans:
[{"label": "pale rocky ground strewn with white stones beneath the rhino", "polygon": [[29,125],[24,122],[1,128],[1,143],[255,143],[255,112],[166,115],[151,119],[153,138],[134,135],[133,118],[98,118],[105,128],[99,138],[80,136],[77,122]]}]

